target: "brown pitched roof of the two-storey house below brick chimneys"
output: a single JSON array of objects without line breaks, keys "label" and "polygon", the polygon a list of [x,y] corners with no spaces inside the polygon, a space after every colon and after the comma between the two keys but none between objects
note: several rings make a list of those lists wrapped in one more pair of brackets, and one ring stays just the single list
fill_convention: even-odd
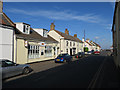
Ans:
[{"label": "brown pitched roof of the two-storey house below brick chimneys", "polygon": [[71,41],[76,41],[76,42],[83,43],[79,38],[76,38],[76,37],[71,36],[71,35],[67,35],[67,34],[65,34],[63,32],[58,31],[58,30],[54,30],[54,31],[56,31],[59,35],[64,37],[64,39],[66,39],[66,40],[71,40]]}]

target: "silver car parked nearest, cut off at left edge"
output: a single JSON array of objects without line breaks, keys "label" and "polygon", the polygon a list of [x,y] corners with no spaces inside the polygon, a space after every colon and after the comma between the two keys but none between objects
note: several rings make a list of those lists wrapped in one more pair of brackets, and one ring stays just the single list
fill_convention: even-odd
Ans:
[{"label": "silver car parked nearest, cut off at left edge", "polygon": [[0,73],[2,73],[2,79],[16,76],[19,74],[28,74],[32,71],[31,67],[27,64],[16,64],[10,60],[0,60]]}]

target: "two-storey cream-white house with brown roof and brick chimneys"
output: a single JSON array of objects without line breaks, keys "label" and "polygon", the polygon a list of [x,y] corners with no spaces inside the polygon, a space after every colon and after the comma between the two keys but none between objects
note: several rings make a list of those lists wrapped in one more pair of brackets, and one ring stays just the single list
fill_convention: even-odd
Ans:
[{"label": "two-storey cream-white house with brown roof and brick chimneys", "polygon": [[55,30],[55,25],[52,23],[48,34],[59,42],[57,45],[57,53],[59,54],[68,53],[69,55],[75,55],[83,51],[83,42],[77,38],[77,34],[74,36],[69,35],[67,29],[65,29],[65,33],[60,32]]}]

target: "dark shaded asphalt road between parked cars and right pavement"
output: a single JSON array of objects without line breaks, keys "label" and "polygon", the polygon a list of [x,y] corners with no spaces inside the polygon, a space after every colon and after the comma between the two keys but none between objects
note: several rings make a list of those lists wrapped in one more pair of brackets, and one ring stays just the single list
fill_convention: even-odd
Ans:
[{"label": "dark shaded asphalt road between parked cars and right pavement", "polygon": [[[69,64],[56,64],[46,70],[37,67],[36,72],[30,75],[3,82],[3,88],[88,88],[105,58],[105,54],[101,54]],[[51,67],[53,63],[48,66]]]}]

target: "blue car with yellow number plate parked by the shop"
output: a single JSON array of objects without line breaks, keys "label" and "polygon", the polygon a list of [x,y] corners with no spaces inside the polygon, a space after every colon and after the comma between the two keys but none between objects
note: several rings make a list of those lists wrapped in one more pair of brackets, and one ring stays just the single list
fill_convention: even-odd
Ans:
[{"label": "blue car with yellow number plate parked by the shop", "polygon": [[72,61],[72,56],[69,54],[59,54],[55,59],[55,63],[57,62],[70,62]]}]

